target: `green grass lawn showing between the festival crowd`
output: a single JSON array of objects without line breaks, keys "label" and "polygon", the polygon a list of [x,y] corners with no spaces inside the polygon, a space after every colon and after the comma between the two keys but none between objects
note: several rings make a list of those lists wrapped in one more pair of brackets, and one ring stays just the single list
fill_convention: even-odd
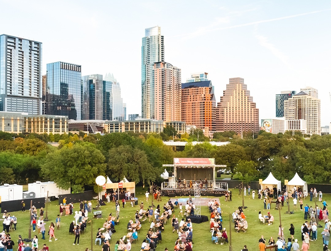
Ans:
[{"label": "green grass lawn showing between the festival crowd", "polygon": [[[309,188],[309,187],[308,187]],[[144,204],[147,204],[145,200],[144,191],[141,187],[136,188],[136,197],[138,197],[140,204],[140,201],[144,201]],[[243,246],[246,244],[248,249],[251,250],[258,250],[258,240],[261,235],[264,235],[265,239],[268,241],[270,236],[272,236],[274,239],[277,239],[278,236],[278,226],[279,226],[279,212],[278,210],[275,210],[275,204],[272,204],[272,209],[270,210],[270,213],[274,215],[275,221],[273,225],[260,225],[260,221],[258,219],[259,210],[262,211],[262,214],[267,214],[267,210],[263,210],[263,200],[259,199],[252,199],[252,197],[246,196],[245,197],[245,206],[248,208],[244,210],[245,215],[247,217],[248,222],[248,231],[247,233],[236,233],[233,228],[232,219],[229,220],[229,216],[232,214],[232,212],[242,204],[242,197],[239,196],[238,190],[233,189],[232,190],[232,201],[231,202],[225,202],[223,199],[224,197],[219,197],[221,202],[221,209],[222,209],[222,216],[223,216],[223,228],[226,228],[228,236],[230,235],[230,228],[232,230],[232,248],[233,250],[241,250]],[[256,193],[257,194],[257,193]],[[323,199],[326,199],[326,201],[330,201],[331,196],[330,195],[323,195]],[[162,197],[163,201],[160,203],[160,206],[162,208],[163,203],[165,203],[168,200],[168,197]],[[204,198],[202,199],[209,199]],[[96,201],[93,201],[93,206],[96,205]],[[306,203],[309,205],[314,206],[312,202],[307,199],[304,201],[304,206]],[[149,205],[151,204],[151,201],[149,201]],[[155,205],[157,205],[157,202],[154,202]],[[286,203],[285,203],[286,204]],[[317,203],[318,206],[322,205],[321,202]],[[147,205],[145,205],[146,207]],[[75,211],[76,208],[79,208],[79,204],[74,204]],[[120,208],[120,223],[119,225],[115,226],[116,233],[112,235],[112,241],[111,241],[111,250],[114,250],[114,245],[116,241],[122,237],[123,235],[126,235],[127,230],[126,226],[128,221],[133,218],[134,219],[134,213],[136,210],[139,210],[139,206],[131,207],[129,203],[125,205],[125,208]],[[293,203],[291,202],[291,210],[293,209]],[[287,240],[289,235],[289,227],[290,224],[293,223],[295,226],[295,238],[297,238],[301,247],[301,225],[305,222],[304,220],[304,212],[300,211],[300,206],[298,204],[298,210],[295,211],[294,214],[285,214],[287,211],[287,206],[283,207],[281,210],[281,220],[282,225],[284,227],[284,236]],[[103,219],[94,219],[93,220],[93,250],[101,250],[99,246],[94,245],[94,239],[97,233],[98,227],[102,227],[102,224],[107,219],[109,213],[113,213],[113,215],[116,215],[115,213],[115,203],[111,202],[107,204],[106,206],[103,206]],[[45,208],[46,212],[46,208]],[[177,216],[177,213],[179,212],[178,209],[175,210],[175,215]],[[17,240],[18,235],[21,234],[23,238],[28,238],[28,228],[29,228],[29,213],[26,211],[25,213],[22,212],[11,212],[11,215],[15,215],[18,219],[17,224],[17,231],[10,232],[12,239],[15,242],[14,249],[17,248]],[[48,218],[49,222],[47,222],[47,226],[50,224],[51,221],[55,222],[55,218],[59,214],[59,206],[58,201],[52,201],[48,203]],[[210,213],[207,208],[207,206],[202,206],[201,208],[201,214],[207,215],[210,219]],[[45,214],[44,214],[45,216]],[[92,218],[92,214],[89,214],[89,217]],[[178,217],[181,219],[181,217]],[[91,227],[87,227],[86,233],[80,235],[80,242],[79,246],[75,245],[73,246],[72,243],[74,241],[74,235],[69,234],[69,225],[71,221],[73,220],[73,215],[71,216],[62,216],[61,218],[61,229],[57,230],[55,229],[55,236],[58,238],[57,241],[48,242],[49,236],[47,236],[48,229],[46,229],[46,240],[41,239],[41,234],[38,235],[39,238],[39,248],[42,247],[44,243],[46,243],[50,250],[85,250],[86,247],[89,249],[91,248]],[[170,221],[169,221],[170,222]],[[163,251],[165,247],[169,249],[169,251],[173,250],[173,246],[175,243],[175,240],[177,238],[176,233],[172,233],[172,227],[171,223],[165,225],[165,231],[162,233],[162,244],[158,244],[157,250]],[[320,222],[322,226],[324,226],[324,222]],[[138,241],[136,244],[132,244],[132,251],[139,251],[140,245],[142,240],[145,238],[147,230],[149,229],[149,223],[148,220],[146,221],[146,224],[142,224],[142,229],[140,233],[138,233]],[[206,248],[214,247],[220,250],[228,250],[228,245],[214,245],[211,242],[211,233],[209,231],[209,222],[205,222],[202,224],[193,224],[193,249],[194,250],[204,250]],[[310,242],[310,250],[321,250],[322,247],[322,238],[321,236],[322,228],[317,229],[317,238],[318,241]],[[31,235],[33,236],[36,234],[36,232],[31,232]]]}]

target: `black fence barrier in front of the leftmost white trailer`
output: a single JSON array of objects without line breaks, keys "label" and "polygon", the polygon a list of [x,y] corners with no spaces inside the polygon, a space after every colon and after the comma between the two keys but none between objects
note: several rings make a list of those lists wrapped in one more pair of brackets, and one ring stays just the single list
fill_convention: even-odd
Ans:
[{"label": "black fence barrier in front of the leftmost white trailer", "polygon": [[31,200],[32,200],[32,205],[34,205],[36,208],[40,208],[40,207],[45,208],[45,198],[44,197],[17,199],[17,200],[11,200],[11,201],[2,201],[1,202],[1,213],[3,213],[5,210],[7,210],[7,213],[22,210],[22,200],[25,203],[25,211],[30,210]]}]

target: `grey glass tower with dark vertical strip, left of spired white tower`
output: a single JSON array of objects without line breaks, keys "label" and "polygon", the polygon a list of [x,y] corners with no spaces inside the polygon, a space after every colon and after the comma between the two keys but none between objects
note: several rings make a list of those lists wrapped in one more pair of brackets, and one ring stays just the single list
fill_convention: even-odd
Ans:
[{"label": "grey glass tower with dark vertical strip, left of spired white tower", "polygon": [[103,77],[83,76],[83,120],[103,119]]}]

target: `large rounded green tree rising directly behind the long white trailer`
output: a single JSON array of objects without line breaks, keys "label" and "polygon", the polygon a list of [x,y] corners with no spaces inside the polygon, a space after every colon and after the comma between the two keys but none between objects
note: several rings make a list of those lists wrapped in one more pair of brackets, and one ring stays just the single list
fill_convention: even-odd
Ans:
[{"label": "large rounded green tree rising directly behind the long white trailer", "polygon": [[94,185],[95,178],[105,175],[105,157],[88,142],[67,144],[50,153],[42,165],[42,173],[62,189],[84,191],[84,185]]}]

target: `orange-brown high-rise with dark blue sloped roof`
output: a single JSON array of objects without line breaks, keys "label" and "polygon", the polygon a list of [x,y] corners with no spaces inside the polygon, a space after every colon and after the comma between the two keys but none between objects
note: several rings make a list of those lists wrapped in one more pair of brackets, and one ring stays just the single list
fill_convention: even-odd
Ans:
[{"label": "orange-brown high-rise with dark blue sloped roof", "polygon": [[182,121],[215,131],[216,99],[212,81],[182,84]]}]

